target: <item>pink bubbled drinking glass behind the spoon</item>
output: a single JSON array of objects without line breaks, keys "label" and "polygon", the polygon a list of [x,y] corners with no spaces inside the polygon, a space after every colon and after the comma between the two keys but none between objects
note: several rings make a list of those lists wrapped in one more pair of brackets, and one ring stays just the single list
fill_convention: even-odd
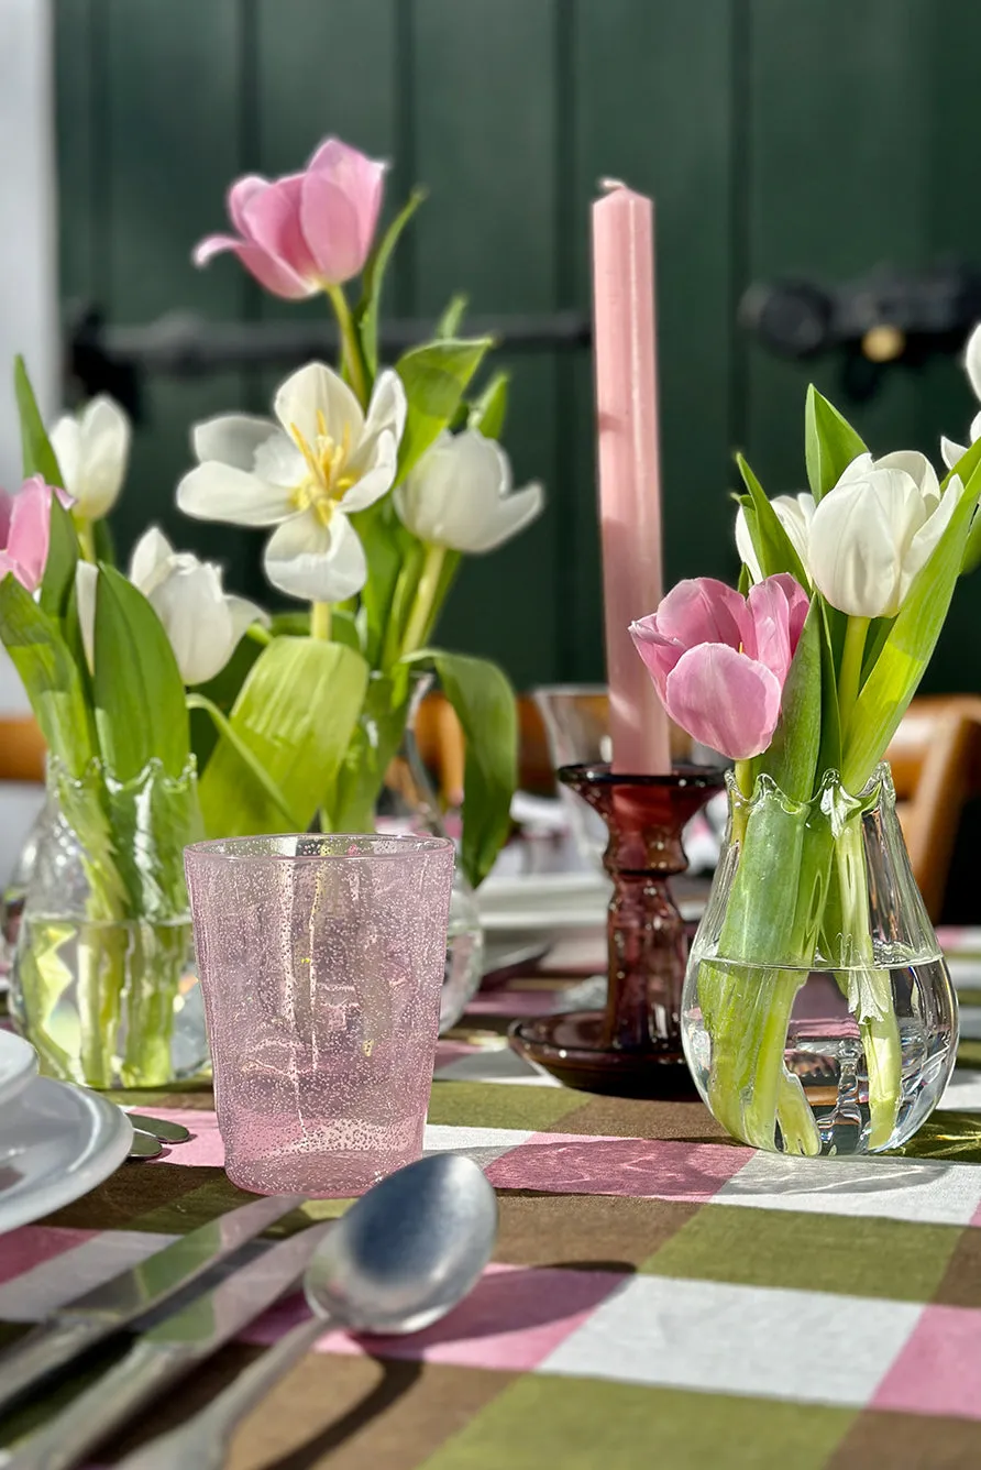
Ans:
[{"label": "pink bubbled drinking glass behind the spoon", "polygon": [[348,1197],[419,1158],[452,842],[248,836],[184,861],[229,1179]]}]

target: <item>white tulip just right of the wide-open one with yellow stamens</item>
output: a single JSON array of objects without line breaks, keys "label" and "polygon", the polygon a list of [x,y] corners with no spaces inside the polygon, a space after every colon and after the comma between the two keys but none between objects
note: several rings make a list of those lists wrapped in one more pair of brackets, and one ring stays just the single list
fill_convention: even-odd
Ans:
[{"label": "white tulip just right of the wide-open one with yellow stamens", "polygon": [[495,440],[476,429],[441,434],[395,491],[408,529],[451,551],[493,551],[542,513],[537,482],[511,490],[511,462]]}]

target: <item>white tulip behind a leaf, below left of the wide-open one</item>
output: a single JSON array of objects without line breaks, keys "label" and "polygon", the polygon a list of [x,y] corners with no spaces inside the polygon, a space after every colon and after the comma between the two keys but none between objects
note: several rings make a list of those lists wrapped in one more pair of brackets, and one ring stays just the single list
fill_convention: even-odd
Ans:
[{"label": "white tulip behind a leaf, below left of the wide-open one", "polygon": [[[90,562],[78,563],[78,620],[90,667],[97,579],[97,567]],[[225,667],[251,623],[269,623],[269,614],[256,603],[222,589],[219,566],[200,562],[191,551],[175,551],[156,526],[144,532],[134,548],[129,581],[163,623],[185,684],[207,684]]]}]

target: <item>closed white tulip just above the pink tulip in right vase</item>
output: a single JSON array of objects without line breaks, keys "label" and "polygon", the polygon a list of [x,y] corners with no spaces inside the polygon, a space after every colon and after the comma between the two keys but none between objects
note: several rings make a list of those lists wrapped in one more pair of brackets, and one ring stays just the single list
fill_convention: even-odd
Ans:
[{"label": "closed white tulip just above the pink tulip in right vase", "polygon": [[814,585],[852,617],[894,617],[962,494],[955,475],[941,495],[922,454],[861,454],[811,520]]}]

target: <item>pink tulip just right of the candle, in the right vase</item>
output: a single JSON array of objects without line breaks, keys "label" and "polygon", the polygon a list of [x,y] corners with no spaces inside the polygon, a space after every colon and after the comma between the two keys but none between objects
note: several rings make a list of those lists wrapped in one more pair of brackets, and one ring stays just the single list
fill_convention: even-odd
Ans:
[{"label": "pink tulip just right of the candle, in the right vase", "polygon": [[709,750],[747,760],[772,739],[808,606],[787,573],[747,598],[701,576],[678,582],[630,637],[671,719]]}]

